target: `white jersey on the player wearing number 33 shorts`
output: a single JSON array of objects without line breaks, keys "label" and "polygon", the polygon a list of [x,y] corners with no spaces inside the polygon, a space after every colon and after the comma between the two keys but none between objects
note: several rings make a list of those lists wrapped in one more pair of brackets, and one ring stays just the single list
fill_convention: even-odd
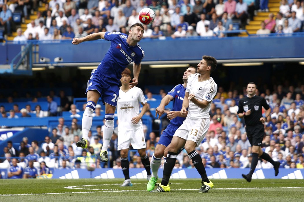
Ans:
[{"label": "white jersey on the player wearing number 33 shorts", "polygon": [[213,100],[217,91],[217,85],[212,77],[206,81],[199,81],[199,75],[200,74],[189,75],[186,92],[189,94],[194,93],[196,99],[200,101],[207,100],[209,104],[205,108],[200,108],[192,101],[189,101],[187,117],[191,119],[210,117],[209,109],[211,101]]}]

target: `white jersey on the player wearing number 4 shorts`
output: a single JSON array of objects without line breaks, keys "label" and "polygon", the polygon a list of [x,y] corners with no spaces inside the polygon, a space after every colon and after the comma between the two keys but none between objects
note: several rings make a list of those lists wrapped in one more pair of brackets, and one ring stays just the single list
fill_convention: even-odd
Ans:
[{"label": "white jersey on the player wearing number 4 shorts", "polygon": [[142,121],[132,124],[133,117],[139,115],[140,103],[146,103],[146,98],[140,88],[133,87],[127,92],[119,89],[117,101],[118,131],[131,131],[143,126]]}]

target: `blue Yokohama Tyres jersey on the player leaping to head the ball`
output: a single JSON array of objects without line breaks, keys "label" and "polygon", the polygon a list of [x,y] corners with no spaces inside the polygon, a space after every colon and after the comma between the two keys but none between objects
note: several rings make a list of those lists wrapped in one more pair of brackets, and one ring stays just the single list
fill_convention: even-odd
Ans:
[{"label": "blue Yokohama Tyres jersey on the player leaping to head the ball", "polygon": [[96,71],[100,74],[119,81],[121,72],[131,62],[140,64],[144,52],[138,44],[129,46],[128,35],[120,32],[105,32],[105,40],[111,41],[111,46]]}]

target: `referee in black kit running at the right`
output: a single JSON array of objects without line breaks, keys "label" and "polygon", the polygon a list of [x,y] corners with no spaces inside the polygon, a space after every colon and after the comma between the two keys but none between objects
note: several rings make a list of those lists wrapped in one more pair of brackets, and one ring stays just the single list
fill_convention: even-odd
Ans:
[{"label": "referee in black kit running at the right", "polygon": [[[242,177],[250,182],[259,157],[269,161],[273,165],[275,168],[275,176],[279,174],[280,162],[273,161],[272,158],[261,149],[261,144],[265,135],[263,123],[269,116],[271,109],[265,98],[255,94],[257,87],[254,82],[248,83],[246,91],[247,96],[239,101],[239,111],[237,114],[240,118],[244,117],[245,119],[247,137],[252,146],[252,162],[250,171],[247,175],[242,174]],[[266,109],[265,118],[262,116],[262,107]]]}]

